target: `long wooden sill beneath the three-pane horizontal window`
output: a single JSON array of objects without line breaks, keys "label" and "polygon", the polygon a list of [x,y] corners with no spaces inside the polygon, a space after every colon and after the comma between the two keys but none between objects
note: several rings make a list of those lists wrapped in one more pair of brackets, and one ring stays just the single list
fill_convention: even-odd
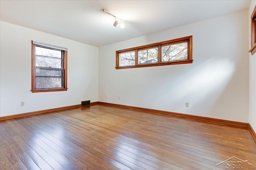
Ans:
[{"label": "long wooden sill beneath the three-pane horizontal window", "polygon": [[182,61],[172,61],[172,62],[162,62],[162,63],[152,63],[152,64],[138,64],[138,65],[133,65],[133,66],[119,66],[119,67],[115,67],[115,68],[116,69],[124,69],[124,68],[165,66],[165,65],[189,64],[189,63],[193,63],[193,60],[182,60]]}]

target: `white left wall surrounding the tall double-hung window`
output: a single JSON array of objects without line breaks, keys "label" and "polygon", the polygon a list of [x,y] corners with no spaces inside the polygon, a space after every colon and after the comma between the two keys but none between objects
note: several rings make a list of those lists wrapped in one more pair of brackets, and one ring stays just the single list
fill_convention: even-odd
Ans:
[{"label": "white left wall surrounding the tall double-hung window", "polygon": [[[1,117],[98,101],[98,47],[3,21],[0,27]],[[32,40],[68,48],[68,91],[30,91]]]}]

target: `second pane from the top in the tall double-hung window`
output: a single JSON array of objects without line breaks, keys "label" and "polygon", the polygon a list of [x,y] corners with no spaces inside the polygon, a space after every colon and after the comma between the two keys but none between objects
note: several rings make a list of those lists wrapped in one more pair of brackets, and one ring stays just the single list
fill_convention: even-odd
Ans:
[{"label": "second pane from the top in the tall double-hung window", "polygon": [[62,68],[62,60],[36,56],[36,66]]}]

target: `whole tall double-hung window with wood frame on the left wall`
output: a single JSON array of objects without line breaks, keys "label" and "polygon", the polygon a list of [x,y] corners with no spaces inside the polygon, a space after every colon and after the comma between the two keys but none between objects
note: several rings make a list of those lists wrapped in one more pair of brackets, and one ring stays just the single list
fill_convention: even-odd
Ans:
[{"label": "whole tall double-hung window with wood frame on the left wall", "polygon": [[68,89],[67,50],[32,41],[32,93]]}]

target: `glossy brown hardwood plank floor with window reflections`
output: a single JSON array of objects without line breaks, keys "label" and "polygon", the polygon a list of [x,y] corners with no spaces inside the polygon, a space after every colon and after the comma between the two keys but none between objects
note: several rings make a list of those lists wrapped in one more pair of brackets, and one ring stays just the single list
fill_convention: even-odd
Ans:
[{"label": "glossy brown hardwood plank floor with window reflections", "polygon": [[256,143],[243,127],[104,105],[0,121],[0,170],[221,170],[239,164],[256,170]]}]

